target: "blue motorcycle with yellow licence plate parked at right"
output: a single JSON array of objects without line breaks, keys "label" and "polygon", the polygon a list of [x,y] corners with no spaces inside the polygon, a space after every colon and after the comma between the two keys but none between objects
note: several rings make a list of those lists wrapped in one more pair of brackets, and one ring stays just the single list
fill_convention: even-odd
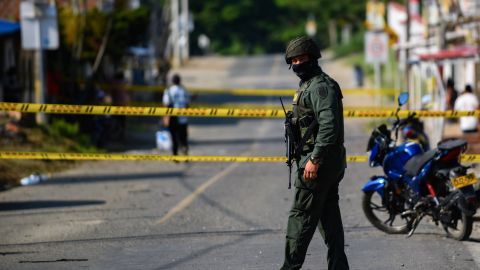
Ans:
[{"label": "blue motorcycle with yellow licence plate parked at right", "polygon": [[382,124],[370,136],[369,165],[381,166],[385,174],[371,177],[362,189],[365,216],[383,232],[408,237],[430,216],[448,237],[468,239],[479,194],[473,188],[475,174],[467,173],[472,166],[460,163],[467,142],[445,140],[432,150],[419,141],[397,144],[398,131],[408,119],[400,119],[398,112],[407,101],[408,93],[400,94],[391,130]]}]

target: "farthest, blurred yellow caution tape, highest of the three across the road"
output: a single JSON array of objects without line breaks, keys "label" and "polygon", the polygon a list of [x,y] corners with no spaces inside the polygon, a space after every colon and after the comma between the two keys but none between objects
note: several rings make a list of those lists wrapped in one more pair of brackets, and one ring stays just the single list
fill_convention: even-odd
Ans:
[{"label": "farthest, blurred yellow caution tape, highest of the three across the road", "polygon": [[[127,85],[126,90],[130,91],[153,91],[161,92],[165,90],[164,86],[155,85]],[[192,94],[228,94],[234,96],[293,96],[295,89],[265,89],[265,88],[188,88]],[[353,88],[342,89],[343,95],[397,95],[400,90],[397,89],[367,89]]]}]

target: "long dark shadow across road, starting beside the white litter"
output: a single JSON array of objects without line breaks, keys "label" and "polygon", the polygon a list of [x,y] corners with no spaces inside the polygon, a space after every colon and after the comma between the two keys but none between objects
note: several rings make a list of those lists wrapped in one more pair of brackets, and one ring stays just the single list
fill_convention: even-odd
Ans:
[{"label": "long dark shadow across road, starting beside the white litter", "polygon": [[117,181],[136,181],[145,179],[161,179],[172,180],[172,178],[182,177],[183,172],[160,172],[160,173],[136,173],[136,174],[104,174],[104,175],[77,175],[77,176],[65,176],[55,177],[50,181],[43,183],[44,185],[59,185],[59,184],[85,184],[85,183],[98,183],[98,182],[117,182]]}]

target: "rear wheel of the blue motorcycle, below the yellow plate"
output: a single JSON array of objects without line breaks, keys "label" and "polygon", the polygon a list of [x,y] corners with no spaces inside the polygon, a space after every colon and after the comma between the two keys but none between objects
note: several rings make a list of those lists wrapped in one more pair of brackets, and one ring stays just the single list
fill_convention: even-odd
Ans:
[{"label": "rear wheel of the blue motorcycle, below the yellow plate", "polygon": [[443,229],[449,238],[458,241],[467,240],[472,234],[473,217],[466,215],[457,206],[452,207],[454,207],[452,221],[448,224],[442,222]]}]

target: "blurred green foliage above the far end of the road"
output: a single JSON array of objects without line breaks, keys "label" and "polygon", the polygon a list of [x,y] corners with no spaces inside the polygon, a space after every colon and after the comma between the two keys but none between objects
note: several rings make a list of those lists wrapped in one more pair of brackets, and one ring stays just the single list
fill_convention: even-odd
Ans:
[{"label": "blurred green foliage above the far end of the road", "polygon": [[328,45],[328,23],[340,28],[346,23],[359,31],[365,17],[366,0],[204,0],[192,1],[196,38],[206,34],[211,51],[221,54],[252,54],[283,52],[292,38],[305,35],[305,23],[315,18],[315,39],[322,47]]}]

